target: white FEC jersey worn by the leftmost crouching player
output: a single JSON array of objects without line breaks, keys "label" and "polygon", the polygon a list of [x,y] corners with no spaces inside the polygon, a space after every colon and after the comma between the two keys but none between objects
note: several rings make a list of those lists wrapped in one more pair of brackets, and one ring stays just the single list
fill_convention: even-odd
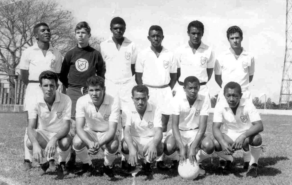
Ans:
[{"label": "white FEC jersey worn by the leftmost crouching player", "polygon": [[39,129],[48,132],[59,132],[63,120],[71,119],[71,100],[69,96],[56,92],[51,111],[44,100],[44,95],[35,98],[35,102],[28,107],[28,119],[35,119],[39,115]]}]

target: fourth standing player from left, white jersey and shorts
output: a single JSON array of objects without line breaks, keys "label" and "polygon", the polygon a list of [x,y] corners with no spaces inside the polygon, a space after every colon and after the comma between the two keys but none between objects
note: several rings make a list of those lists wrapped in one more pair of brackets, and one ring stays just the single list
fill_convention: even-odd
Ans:
[{"label": "fourth standing player from left, white jersey and shorts", "polygon": [[[173,53],[161,45],[163,39],[162,28],[157,25],[151,26],[148,32],[151,46],[138,55],[135,70],[138,84],[144,84],[149,88],[149,101],[161,109],[164,141],[169,115],[172,113],[171,90],[176,83],[177,62]],[[162,159],[157,162],[157,167],[161,170],[168,169]]]}]

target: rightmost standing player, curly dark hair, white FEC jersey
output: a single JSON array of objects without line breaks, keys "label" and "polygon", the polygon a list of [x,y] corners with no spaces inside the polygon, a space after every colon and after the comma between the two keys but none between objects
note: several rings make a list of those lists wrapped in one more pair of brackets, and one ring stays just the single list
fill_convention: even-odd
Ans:
[{"label": "rightmost standing player, curly dark hair, white FEC jersey", "polygon": [[243,93],[242,98],[252,102],[248,86],[253,80],[255,71],[254,57],[241,47],[243,36],[242,30],[238,26],[229,27],[226,33],[230,48],[218,56],[214,69],[215,81],[221,88],[217,102],[220,99],[225,100],[223,89],[230,81],[239,83]]}]

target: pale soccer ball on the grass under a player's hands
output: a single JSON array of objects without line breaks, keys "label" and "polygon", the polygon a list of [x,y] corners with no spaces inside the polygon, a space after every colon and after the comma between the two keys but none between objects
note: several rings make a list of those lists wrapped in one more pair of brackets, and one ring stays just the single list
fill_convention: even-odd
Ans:
[{"label": "pale soccer ball on the grass under a player's hands", "polygon": [[199,165],[194,161],[194,165],[190,163],[190,160],[187,159],[187,163],[178,165],[178,174],[183,179],[193,180],[199,176]]}]

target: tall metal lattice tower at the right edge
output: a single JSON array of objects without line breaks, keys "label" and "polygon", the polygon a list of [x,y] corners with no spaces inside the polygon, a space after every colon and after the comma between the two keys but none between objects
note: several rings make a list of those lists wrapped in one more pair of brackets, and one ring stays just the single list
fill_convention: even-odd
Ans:
[{"label": "tall metal lattice tower at the right edge", "polygon": [[[286,0],[286,52],[283,65],[279,108],[287,106],[292,101],[292,0]],[[286,106],[283,106],[286,104]],[[291,105],[292,106],[292,105]]]}]

